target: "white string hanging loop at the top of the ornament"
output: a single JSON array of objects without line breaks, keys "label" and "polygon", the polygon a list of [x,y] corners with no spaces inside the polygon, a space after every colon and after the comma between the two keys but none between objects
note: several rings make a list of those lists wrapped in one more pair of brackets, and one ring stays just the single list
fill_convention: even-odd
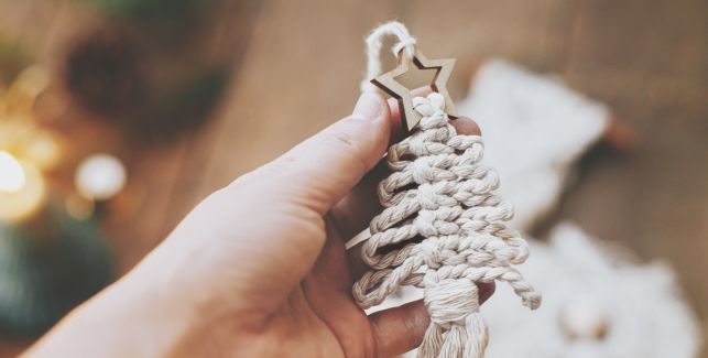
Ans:
[{"label": "white string hanging loop at the top of the ornament", "polygon": [[371,78],[379,76],[381,69],[381,47],[386,36],[395,36],[399,42],[393,45],[391,51],[394,56],[399,56],[402,51],[409,57],[415,54],[415,37],[411,36],[409,29],[397,21],[390,21],[374,29],[367,36],[367,75],[361,82],[361,91],[377,91],[379,88],[370,83]]}]

